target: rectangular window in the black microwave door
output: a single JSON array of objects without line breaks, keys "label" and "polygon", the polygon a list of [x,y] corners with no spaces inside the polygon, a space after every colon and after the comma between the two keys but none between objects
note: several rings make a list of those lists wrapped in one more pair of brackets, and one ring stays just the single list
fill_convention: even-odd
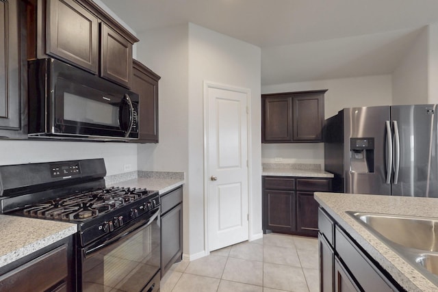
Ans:
[{"label": "rectangular window in the black microwave door", "polygon": [[[103,96],[102,98],[105,98]],[[64,92],[64,119],[119,127],[118,106]]]}]

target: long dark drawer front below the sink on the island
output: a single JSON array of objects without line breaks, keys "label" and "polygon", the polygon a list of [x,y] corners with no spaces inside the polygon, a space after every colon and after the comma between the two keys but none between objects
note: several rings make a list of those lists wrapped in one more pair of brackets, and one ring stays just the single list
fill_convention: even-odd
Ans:
[{"label": "long dark drawer front below the sink on the island", "polygon": [[355,243],[336,226],[335,228],[335,250],[338,252],[342,262],[350,269],[350,272],[363,288],[363,291],[397,291],[392,284],[383,280],[380,272],[370,263],[368,258],[355,246]]}]

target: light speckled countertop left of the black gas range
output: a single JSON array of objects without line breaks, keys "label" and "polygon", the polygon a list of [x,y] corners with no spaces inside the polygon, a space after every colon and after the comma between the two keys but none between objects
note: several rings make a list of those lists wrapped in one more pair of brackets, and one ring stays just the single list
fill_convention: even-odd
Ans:
[{"label": "light speckled countertop left of the black gas range", "polygon": [[0,215],[0,267],[77,232],[66,222]]}]

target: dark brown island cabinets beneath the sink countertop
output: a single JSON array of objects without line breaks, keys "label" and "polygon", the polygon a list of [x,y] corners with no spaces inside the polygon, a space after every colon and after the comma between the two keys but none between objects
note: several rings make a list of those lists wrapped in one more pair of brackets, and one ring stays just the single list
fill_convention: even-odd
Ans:
[{"label": "dark brown island cabinets beneath the sink countertop", "polygon": [[404,291],[331,218],[319,212],[320,291]]}]

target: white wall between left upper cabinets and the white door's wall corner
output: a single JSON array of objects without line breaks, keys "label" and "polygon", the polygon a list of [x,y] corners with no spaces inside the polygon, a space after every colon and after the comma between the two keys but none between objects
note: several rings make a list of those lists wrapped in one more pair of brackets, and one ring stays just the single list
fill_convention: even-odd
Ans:
[{"label": "white wall between left upper cabinets and the white door's wall corner", "polygon": [[[138,169],[188,174],[188,25],[138,36],[138,60],[158,82],[158,144],[138,144]],[[189,254],[189,183],[183,187],[183,253]]]}]

